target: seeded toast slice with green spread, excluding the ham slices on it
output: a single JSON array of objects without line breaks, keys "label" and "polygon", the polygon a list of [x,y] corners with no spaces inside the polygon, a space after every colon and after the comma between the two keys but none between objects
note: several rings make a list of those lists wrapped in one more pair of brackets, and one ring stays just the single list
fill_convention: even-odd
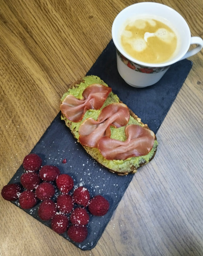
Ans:
[{"label": "seeded toast slice with green spread, excluding the ham slices on it", "polygon": [[[97,76],[90,75],[90,76],[83,77],[81,80],[74,83],[66,93],[64,93],[64,95],[61,98],[61,103],[64,101],[64,99],[69,94],[74,95],[75,98],[77,98],[77,99],[82,99],[83,91],[88,86],[90,86],[94,83],[101,84],[101,85],[108,87],[108,85]],[[66,126],[70,129],[70,131],[74,135],[75,139],[77,139],[77,141],[80,142],[79,141],[79,136],[80,136],[79,128],[80,128],[80,125],[84,122],[84,120],[86,120],[89,117],[93,118],[94,120],[97,120],[99,114],[101,113],[101,110],[104,109],[104,107],[106,107],[112,103],[123,103],[123,102],[121,102],[120,99],[118,98],[118,96],[111,91],[108,94],[107,98],[105,99],[102,107],[98,110],[95,110],[95,109],[86,110],[86,112],[80,122],[73,122],[73,121],[69,120],[67,118],[67,116],[65,114],[63,114],[62,112],[61,112],[61,119],[65,121]],[[149,129],[147,124],[142,123],[141,118],[137,117],[137,115],[134,114],[133,111],[130,109],[129,109],[129,115],[130,116],[129,116],[128,124],[135,124],[135,125],[142,126],[146,129]],[[115,128],[115,127],[111,126],[110,127],[111,136],[114,137],[114,139],[124,140],[123,138],[125,138],[125,136],[126,136],[125,135],[125,127]],[[136,157],[129,157],[125,160],[114,160],[114,159],[107,160],[105,157],[103,157],[103,155],[101,154],[101,152],[98,150],[97,147],[88,147],[88,146],[84,146],[83,144],[82,144],[82,146],[86,150],[86,152],[89,155],[91,155],[91,157],[93,157],[102,166],[105,166],[105,168],[107,168],[107,170],[109,170],[113,173],[116,173],[118,175],[126,175],[129,173],[136,173],[136,171],[139,167],[141,167],[142,165],[144,165],[146,163],[149,163],[150,160],[152,160],[152,158],[154,157],[154,155],[156,153],[158,142],[157,142],[157,138],[155,137],[152,149],[150,149],[148,154],[136,156]]]}]

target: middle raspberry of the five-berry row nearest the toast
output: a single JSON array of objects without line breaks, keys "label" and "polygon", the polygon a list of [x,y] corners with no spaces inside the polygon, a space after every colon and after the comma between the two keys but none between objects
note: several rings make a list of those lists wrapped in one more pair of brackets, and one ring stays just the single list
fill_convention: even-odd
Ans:
[{"label": "middle raspberry of the five-berry row nearest the toast", "polygon": [[60,174],[56,178],[56,185],[61,193],[68,194],[74,186],[74,181],[68,174]]}]

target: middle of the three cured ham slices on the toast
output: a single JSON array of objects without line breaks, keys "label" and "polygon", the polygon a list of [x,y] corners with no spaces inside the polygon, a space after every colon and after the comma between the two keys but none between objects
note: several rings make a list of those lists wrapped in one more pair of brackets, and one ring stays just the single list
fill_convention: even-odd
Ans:
[{"label": "middle of the three cured ham slices on the toast", "polygon": [[110,137],[110,125],[115,128],[125,126],[129,116],[129,109],[123,103],[113,103],[104,107],[97,120],[87,118],[80,125],[80,143],[88,147],[97,147],[99,139],[104,136]]}]

